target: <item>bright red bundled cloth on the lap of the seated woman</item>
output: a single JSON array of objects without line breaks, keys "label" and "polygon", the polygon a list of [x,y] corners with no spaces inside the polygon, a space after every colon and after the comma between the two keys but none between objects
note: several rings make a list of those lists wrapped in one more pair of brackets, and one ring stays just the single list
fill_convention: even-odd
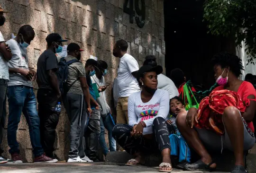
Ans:
[{"label": "bright red bundled cloth on the lap of the seated woman", "polygon": [[205,128],[215,131],[217,134],[224,133],[224,125],[222,122],[222,114],[228,106],[235,106],[240,112],[245,112],[240,96],[229,90],[212,91],[209,97],[201,100],[198,108],[198,123],[195,123],[197,128]]}]

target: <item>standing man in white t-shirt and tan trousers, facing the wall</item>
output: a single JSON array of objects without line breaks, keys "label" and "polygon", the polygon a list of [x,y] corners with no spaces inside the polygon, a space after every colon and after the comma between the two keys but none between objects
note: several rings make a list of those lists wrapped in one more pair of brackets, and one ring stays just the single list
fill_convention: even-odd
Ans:
[{"label": "standing man in white t-shirt and tan trousers, facing the wall", "polygon": [[140,91],[136,80],[138,62],[127,53],[128,43],[125,40],[119,40],[113,48],[113,55],[120,58],[118,67],[118,88],[119,100],[117,104],[117,123],[128,123],[128,97]]}]

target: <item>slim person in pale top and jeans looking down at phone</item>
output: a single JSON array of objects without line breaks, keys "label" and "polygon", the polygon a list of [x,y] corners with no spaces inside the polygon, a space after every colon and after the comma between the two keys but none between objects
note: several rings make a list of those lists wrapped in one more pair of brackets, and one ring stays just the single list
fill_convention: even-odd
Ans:
[{"label": "slim person in pale top and jeans looking down at phone", "polygon": [[100,145],[103,149],[103,154],[107,156],[109,148],[105,141],[105,128],[108,130],[110,151],[116,151],[116,141],[112,138],[112,129],[114,128],[114,121],[111,116],[110,106],[106,100],[105,90],[110,84],[106,85],[104,76],[108,72],[108,64],[105,61],[97,61],[95,69],[96,74],[91,77],[92,83],[96,83],[100,97],[97,98],[98,104],[101,106],[101,133],[100,133]]}]

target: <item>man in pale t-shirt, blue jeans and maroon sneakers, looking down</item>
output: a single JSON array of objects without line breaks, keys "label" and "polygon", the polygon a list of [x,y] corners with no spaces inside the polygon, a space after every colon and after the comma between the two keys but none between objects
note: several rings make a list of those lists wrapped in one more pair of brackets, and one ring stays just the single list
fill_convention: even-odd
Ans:
[{"label": "man in pale t-shirt, blue jeans and maroon sneakers, looking down", "polygon": [[17,142],[18,123],[23,112],[29,129],[29,136],[35,163],[54,163],[57,160],[44,155],[40,142],[40,119],[37,112],[37,98],[34,94],[32,81],[36,79],[36,71],[28,68],[27,47],[35,37],[34,29],[29,25],[19,28],[18,35],[7,41],[12,49],[12,59],[8,61],[9,82],[8,104],[9,117],[7,140],[10,147],[9,153],[13,163],[21,164]]}]

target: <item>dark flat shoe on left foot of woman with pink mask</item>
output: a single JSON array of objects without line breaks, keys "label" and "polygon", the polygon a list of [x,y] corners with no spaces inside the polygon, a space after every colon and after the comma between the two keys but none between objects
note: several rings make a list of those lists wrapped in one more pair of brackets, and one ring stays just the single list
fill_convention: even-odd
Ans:
[{"label": "dark flat shoe on left foot of woman with pink mask", "polygon": [[196,161],[193,164],[185,164],[184,170],[186,171],[215,171],[215,168],[211,168],[210,165],[215,164],[214,161],[212,161],[210,164],[205,164],[201,160]]}]

